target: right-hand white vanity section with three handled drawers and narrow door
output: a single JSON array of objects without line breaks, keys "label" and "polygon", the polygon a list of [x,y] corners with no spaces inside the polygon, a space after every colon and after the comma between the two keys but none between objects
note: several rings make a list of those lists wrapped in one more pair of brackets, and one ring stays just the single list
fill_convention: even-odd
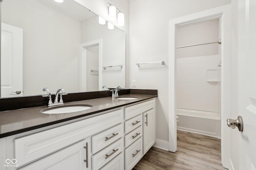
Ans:
[{"label": "right-hand white vanity section with three handled drawers and narrow door", "polygon": [[125,170],[131,170],[156,141],[155,100],[124,108]]}]

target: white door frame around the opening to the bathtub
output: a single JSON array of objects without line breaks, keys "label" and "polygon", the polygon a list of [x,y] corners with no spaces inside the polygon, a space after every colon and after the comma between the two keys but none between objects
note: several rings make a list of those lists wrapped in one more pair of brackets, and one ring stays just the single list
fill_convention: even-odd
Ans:
[{"label": "white door frame around the opening to the bathtub", "polygon": [[229,168],[230,164],[230,130],[226,119],[231,111],[231,5],[220,6],[169,20],[169,151],[177,150],[177,122],[176,122],[176,58],[175,32],[179,25],[198,21],[221,18],[221,155],[222,165]]}]

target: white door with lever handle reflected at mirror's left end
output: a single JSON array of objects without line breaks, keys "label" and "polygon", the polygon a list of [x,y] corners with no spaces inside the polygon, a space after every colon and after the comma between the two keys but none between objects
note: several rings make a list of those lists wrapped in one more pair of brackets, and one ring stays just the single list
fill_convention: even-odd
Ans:
[{"label": "white door with lever handle reflected at mirror's left end", "polygon": [[23,29],[1,25],[1,98],[22,96]]}]

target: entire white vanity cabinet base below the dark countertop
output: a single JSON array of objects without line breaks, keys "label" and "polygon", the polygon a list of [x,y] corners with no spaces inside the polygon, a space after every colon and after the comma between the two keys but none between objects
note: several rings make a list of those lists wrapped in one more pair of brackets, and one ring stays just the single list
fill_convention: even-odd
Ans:
[{"label": "entire white vanity cabinet base below the dark countertop", "polygon": [[131,170],[156,141],[155,115],[151,99],[1,138],[0,161],[17,161],[3,170]]}]

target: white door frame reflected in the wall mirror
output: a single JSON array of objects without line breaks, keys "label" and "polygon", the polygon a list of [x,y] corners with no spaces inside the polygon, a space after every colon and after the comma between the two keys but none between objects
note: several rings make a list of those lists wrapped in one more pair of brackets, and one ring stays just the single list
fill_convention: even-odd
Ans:
[{"label": "white door frame reflected in the wall mirror", "polygon": [[86,92],[87,91],[87,80],[86,80],[86,59],[87,59],[87,49],[86,48],[89,48],[89,47],[94,47],[94,46],[99,46],[99,90],[102,88],[102,39],[96,39],[96,40],[93,40],[93,41],[88,41],[86,43],[82,43],[80,45],[81,47],[81,64],[80,65],[80,80],[81,80],[81,83],[80,83],[80,91],[81,92]]}]

